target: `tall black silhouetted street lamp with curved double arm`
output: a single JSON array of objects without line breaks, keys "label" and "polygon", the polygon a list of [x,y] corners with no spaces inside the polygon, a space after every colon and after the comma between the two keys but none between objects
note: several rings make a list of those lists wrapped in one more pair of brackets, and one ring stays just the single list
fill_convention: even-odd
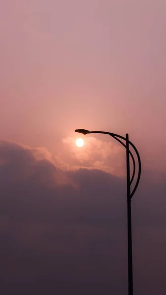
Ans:
[{"label": "tall black silhouetted street lamp with curved double arm", "polygon": [[[75,132],[82,133],[84,135],[90,134],[90,133],[102,133],[102,134],[108,134],[112,136],[114,139],[116,139],[119,143],[121,143],[126,148],[126,167],[127,167],[127,212],[128,212],[128,286],[129,286],[129,295],[133,295],[133,256],[132,256],[132,215],[131,215],[131,200],[133,197],[133,194],[135,193],[139,180],[141,175],[141,160],[139,153],[133,143],[129,140],[129,134],[126,134],[126,137],[123,137],[121,135],[111,133],[111,132],[105,132],[105,131],[89,131],[85,129],[76,129]],[[124,140],[126,142],[126,145],[121,141]],[[135,176],[135,160],[133,157],[133,154],[130,150],[130,146],[134,149],[137,160],[138,160],[138,175],[135,182],[135,186],[133,188],[133,191],[131,192],[131,185]],[[130,176],[130,155],[133,160],[133,175]]]}]

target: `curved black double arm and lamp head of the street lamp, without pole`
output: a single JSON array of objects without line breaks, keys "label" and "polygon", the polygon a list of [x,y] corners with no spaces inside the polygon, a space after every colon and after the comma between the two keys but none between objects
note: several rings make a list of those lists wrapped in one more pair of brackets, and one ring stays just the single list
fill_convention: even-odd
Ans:
[{"label": "curved black double arm and lamp head of the street lamp, without pole", "polygon": [[[121,135],[118,135],[118,134],[115,134],[115,133],[106,132],[106,131],[89,131],[89,130],[85,130],[85,129],[76,129],[75,132],[82,133],[84,135],[90,134],[90,133],[108,134],[108,135],[112,136],[113,138],[115,138],[118,142],[120,142],[126,148],[126,145],[121,140],[119,140],[119,138],[121,138],[124,141],[126,141],[126,138],[124,136],[121,136]],[[137,180],[136,180],[135,186],[133,188],[133,192],[131,193],[131,199],[132,199],[133,194],[135,193],[135,191],[137,189],[137,186],[138,186],[138,183],[139,183],[139,180],[140,180],[140,176],[141,176],[141,160],[140,160],[140,156],[139,156],[138,150],[135,148],[135,146],[133,145],[133,143],[131,141],[129,141],[129,144],[134,149],[134,151],[135,151],[135,153],[137,155],[137,159],[138,159],[138,176],[137,176]],[[132,184],[133,178],[134,178],[134,175],[135,175],[135,160],[134,160],[134,157],[133,157],[132,152],[129,151],[129,153],[130,153],[130,155],[132,157],[132,160],[133,160],[133,176],[132,176],[132,179],[130,181],[130,184]]]}]

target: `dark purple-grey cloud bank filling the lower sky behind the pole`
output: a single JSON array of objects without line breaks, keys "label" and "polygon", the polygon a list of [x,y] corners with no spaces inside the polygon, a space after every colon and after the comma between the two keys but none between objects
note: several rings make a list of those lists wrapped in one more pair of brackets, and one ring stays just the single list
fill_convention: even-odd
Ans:
[{"label": "dark purple-grey cloud bank filling the lower sky behind the pole", "polygon": [[[0,143],[0,294],[127,295],[126,183]],[[166,294],[166,182],[133,202],[134,295]]]}]

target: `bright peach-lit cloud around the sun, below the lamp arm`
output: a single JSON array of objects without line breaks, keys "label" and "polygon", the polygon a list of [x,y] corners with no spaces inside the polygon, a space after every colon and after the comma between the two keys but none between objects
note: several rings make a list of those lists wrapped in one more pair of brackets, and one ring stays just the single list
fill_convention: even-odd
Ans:
[{"label": "bright peach-lit cloud around the sun, below the lamp arm", "polygon": [[116,176],[124,176],[125,149],[116,142],[104,142],[95,137],[84,137],[82,148],[75,146],[76,138],[63,139],[55,156],[57,166],[65,170],[99,169]]}]

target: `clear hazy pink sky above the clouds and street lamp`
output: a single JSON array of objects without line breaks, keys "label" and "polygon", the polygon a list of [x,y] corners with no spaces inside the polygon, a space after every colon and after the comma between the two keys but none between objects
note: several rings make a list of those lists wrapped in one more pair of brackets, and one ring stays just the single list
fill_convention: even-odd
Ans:
[{"label": "clear hazy pink sky above the clouds and street lamp", "polygon": [[164,28],[164,0],[2,1],[0,138],[56,153],[75,128],[129,132],[163,170]]}]

